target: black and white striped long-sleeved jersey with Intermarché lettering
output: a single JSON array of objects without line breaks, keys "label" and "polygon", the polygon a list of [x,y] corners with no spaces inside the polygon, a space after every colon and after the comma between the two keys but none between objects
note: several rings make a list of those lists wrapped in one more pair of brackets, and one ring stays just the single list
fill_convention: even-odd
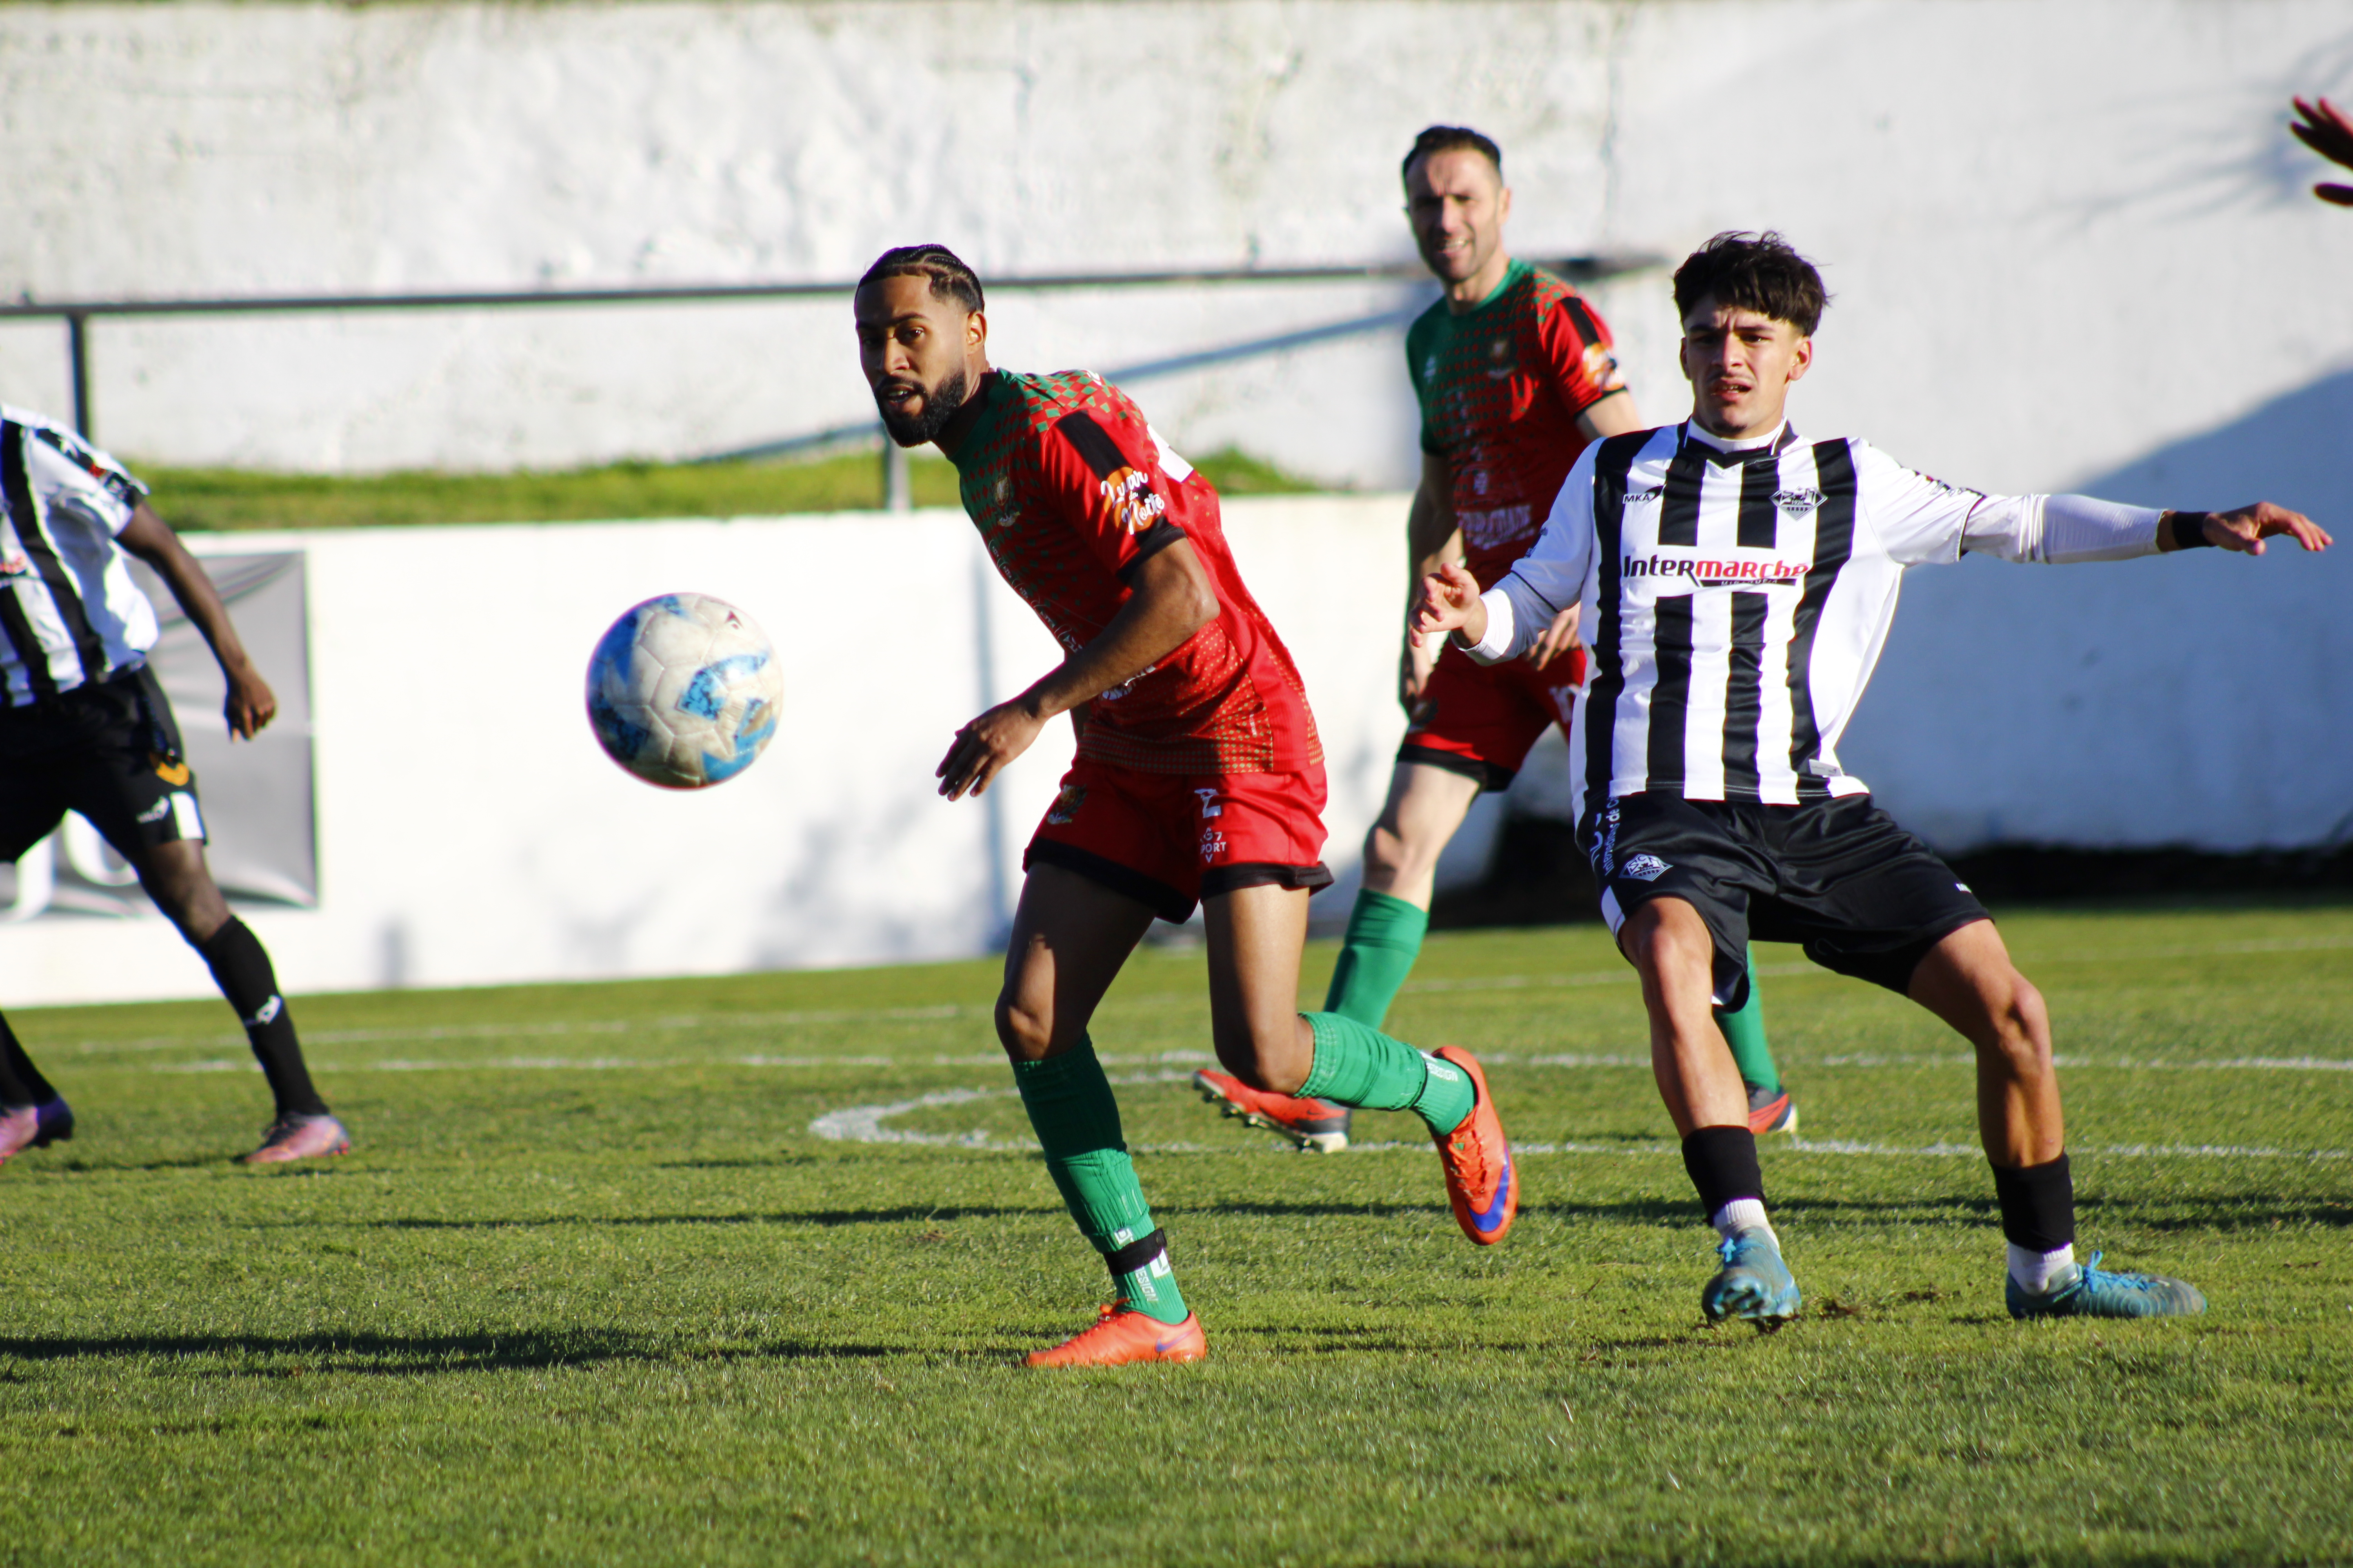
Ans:
[{"label": "black and white striped long-sleeved jersey with Intermarch\u00e9 lettering", "polygon": [[2155,548],[2158,512],[2082,501],[2104,508],[2094,524],[2061,508],[2045,527],[2045,501],[1960,489],[1868,442],[1805,442],[1788,425],[1748,442],[1689,421],[1614,435],[1584,451],[1537,545],[1487,590],[1471,656],[1513,658],[1584,607],[1579,816],[1645,790],[1781,806],[1868,795],[1840,769],[1838,738],[1906,567],[1962,550],[2054,562]]}]

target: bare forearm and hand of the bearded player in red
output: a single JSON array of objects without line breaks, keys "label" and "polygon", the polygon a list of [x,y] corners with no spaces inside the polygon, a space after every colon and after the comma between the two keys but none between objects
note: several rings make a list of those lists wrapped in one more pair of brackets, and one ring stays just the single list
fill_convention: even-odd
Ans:
[{"label": "bare forearm and hand of the bearded player in red", "polygon": [[934,769],[941,795],[981,795],[1056,712],[1125,686],[1217,621],[1217,585],[1184,538],[1144,557],[1132,571],[1127,604],[1094,642],[1014,701],[998,703],[955,731],[955,745]]}]

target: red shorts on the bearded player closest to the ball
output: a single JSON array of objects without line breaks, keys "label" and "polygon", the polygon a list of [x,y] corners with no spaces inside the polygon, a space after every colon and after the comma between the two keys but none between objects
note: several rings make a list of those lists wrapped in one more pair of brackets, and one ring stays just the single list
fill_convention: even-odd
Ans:
[{"label": "red shorts on the bearded player closest to the ball", "polygon": [[1245,886],[1332,886],[1322,764],[1299,773],[1139,773],[1080,757],[1021,853],[1169,922]]}]

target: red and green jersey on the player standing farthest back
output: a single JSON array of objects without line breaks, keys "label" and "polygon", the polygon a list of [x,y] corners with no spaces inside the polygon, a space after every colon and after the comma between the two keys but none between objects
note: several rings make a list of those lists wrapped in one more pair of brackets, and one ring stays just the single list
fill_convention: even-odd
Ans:
[{"label": "red and green jersey on the player standing farthest back", "polygon": [[1405,364],[1421,449],[1454,470],[1464,564],[1494,588],[1537,543],[1586,449],[1577,416],[1626,386],[1609,329],[1577,289],[1513,261],[1475,310],[1424,310],[1405,334]]}]

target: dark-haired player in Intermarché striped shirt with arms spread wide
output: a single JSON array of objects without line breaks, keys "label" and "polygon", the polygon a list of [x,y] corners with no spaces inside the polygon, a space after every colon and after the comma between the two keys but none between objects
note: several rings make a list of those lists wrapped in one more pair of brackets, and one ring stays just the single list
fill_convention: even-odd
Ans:
[{"label": "dark-haired player in Intermarch\u00e9 striped shirt with arms spread wide", "polygon": [[1417,625],[1508,658],[1581,604],[1593,682],[1574,745],[1579,835],[1619,947],[1642,973],[1652,1058],[1722,1246],[1711,1319],[1798,1312],[1739,1086],[1706,1039],[1751,936],[1922,1004],[1977,1046],[1979,1135],[2009,1244],[2012,1316],[2202,1312],[2195,1288],[2075,1262],[2075,1197],[2042,999],[1991,917],[1838,766],[1908,567],[1967,550],[2104,562],[2329,536],[2271,503],[2153,512],[2087,496],[1986,496],[1859,440],[1802,440],[1784,404],[1814,357],[1821,277],[1779,235],[1718,235],[1675,273],[1692,418],[1579,458],[1537,548],[1480,595],[1424,583]]}]

